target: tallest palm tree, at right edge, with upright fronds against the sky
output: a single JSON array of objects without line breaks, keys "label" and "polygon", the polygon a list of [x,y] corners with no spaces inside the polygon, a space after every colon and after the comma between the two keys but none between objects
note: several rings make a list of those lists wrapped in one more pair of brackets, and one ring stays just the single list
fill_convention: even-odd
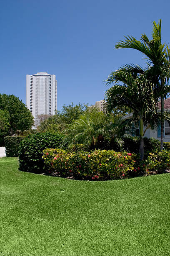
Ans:
[{"label": "tallest palm tree, at right edge, with upright fronds against the sky", "polygon": [[[116,44],[115,49],[131,48],[136,49],[148,59],[148,64],[152,66],[150,69],[152,80],[155,80],[158,87],[165,87],[170,77],[170,47],[161,43],[161,20],[158,24],[153,21],[152,40],[142,34],[141,41],[133,36],[125,37],[125,41]],[[164,98],[167,94],[160,95],[161,100],[161,143],[160,149],[163,149],[163,133],[164,133]]]}]

